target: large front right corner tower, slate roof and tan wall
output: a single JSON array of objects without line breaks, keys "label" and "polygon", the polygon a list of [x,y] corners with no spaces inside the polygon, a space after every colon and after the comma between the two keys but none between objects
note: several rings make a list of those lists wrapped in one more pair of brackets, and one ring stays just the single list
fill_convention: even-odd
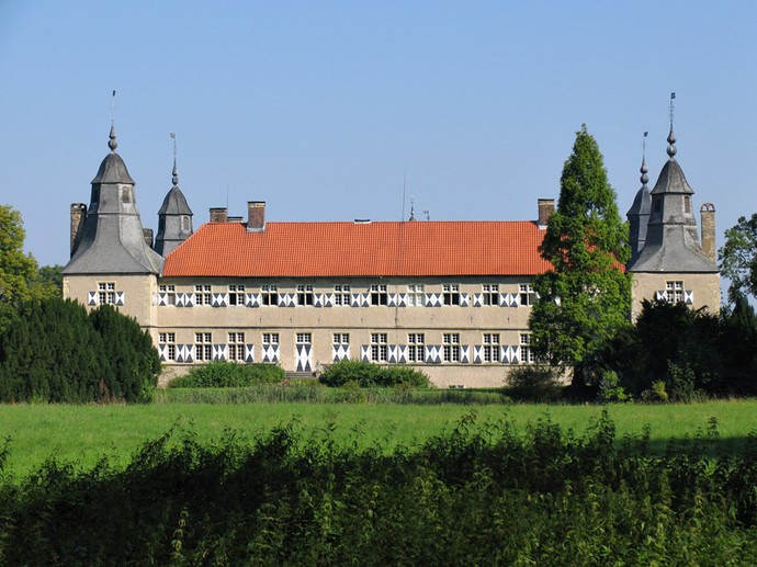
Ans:
[{"label": "large front right corner tower, slate roof and tan wall", "polygon": [[634,279],[634,318],[641,313],[643,299],[683,302],[714,313],[720,309],[720,273],[699,241],[691,203],[693,190],[675,158],[673,122],[667,141],[668,161],[649,193],[644,246],[628,265]]}]

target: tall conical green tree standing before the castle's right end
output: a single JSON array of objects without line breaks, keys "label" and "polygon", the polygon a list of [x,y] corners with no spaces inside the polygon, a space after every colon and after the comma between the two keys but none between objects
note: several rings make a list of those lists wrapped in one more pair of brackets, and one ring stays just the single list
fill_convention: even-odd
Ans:
[{"label": "tall conical green tree standing before the castle's right end", "polygon": [[565,161],[541,254],[554,269],[533,282],[534,349],[552,364],[574,366],[574,377],[583,379],[591,356],[630,325],[631,309],[631,281],[622,269],[631,254],[629,229],[586,125]]}]

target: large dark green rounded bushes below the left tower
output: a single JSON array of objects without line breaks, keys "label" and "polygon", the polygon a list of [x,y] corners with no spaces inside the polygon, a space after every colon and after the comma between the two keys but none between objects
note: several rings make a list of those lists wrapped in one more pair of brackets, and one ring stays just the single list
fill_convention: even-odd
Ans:
[{"label": "large dark green rounded bushes below the left tower", "polygon": [[70,299],[22,307],[0,334],[0,400],[149,401],[160,359],[135,319]]}]

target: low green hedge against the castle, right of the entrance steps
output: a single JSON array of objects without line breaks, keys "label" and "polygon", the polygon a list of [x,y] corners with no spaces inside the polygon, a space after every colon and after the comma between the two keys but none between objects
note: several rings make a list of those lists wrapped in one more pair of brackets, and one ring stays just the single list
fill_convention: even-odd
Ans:
[{"label": "low green hedge against the castle, right of the entrance steps", "polygon": [[355,383],[360,387],[399,385],[415,388],[431,387],[431,381],[425,373],[409,366],[380,366],[355,360],[343,360],[330,364],[319,379],[323,384],[332,387],[342,387],[348,383]]}]

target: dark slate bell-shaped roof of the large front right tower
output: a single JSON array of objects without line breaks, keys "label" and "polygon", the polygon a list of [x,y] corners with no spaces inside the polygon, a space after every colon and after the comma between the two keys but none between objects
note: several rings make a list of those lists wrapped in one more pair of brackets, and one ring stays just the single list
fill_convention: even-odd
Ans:
[{"label": "dark slate bell-shaped roof of the large front right tower", "polygon": [[702,251],[691,195],[683,170],[675,159],[676,135],[670,126],[668,161],[649,193],[652,212],[644,248],[629,264],[631,272],[718,272]]}]

